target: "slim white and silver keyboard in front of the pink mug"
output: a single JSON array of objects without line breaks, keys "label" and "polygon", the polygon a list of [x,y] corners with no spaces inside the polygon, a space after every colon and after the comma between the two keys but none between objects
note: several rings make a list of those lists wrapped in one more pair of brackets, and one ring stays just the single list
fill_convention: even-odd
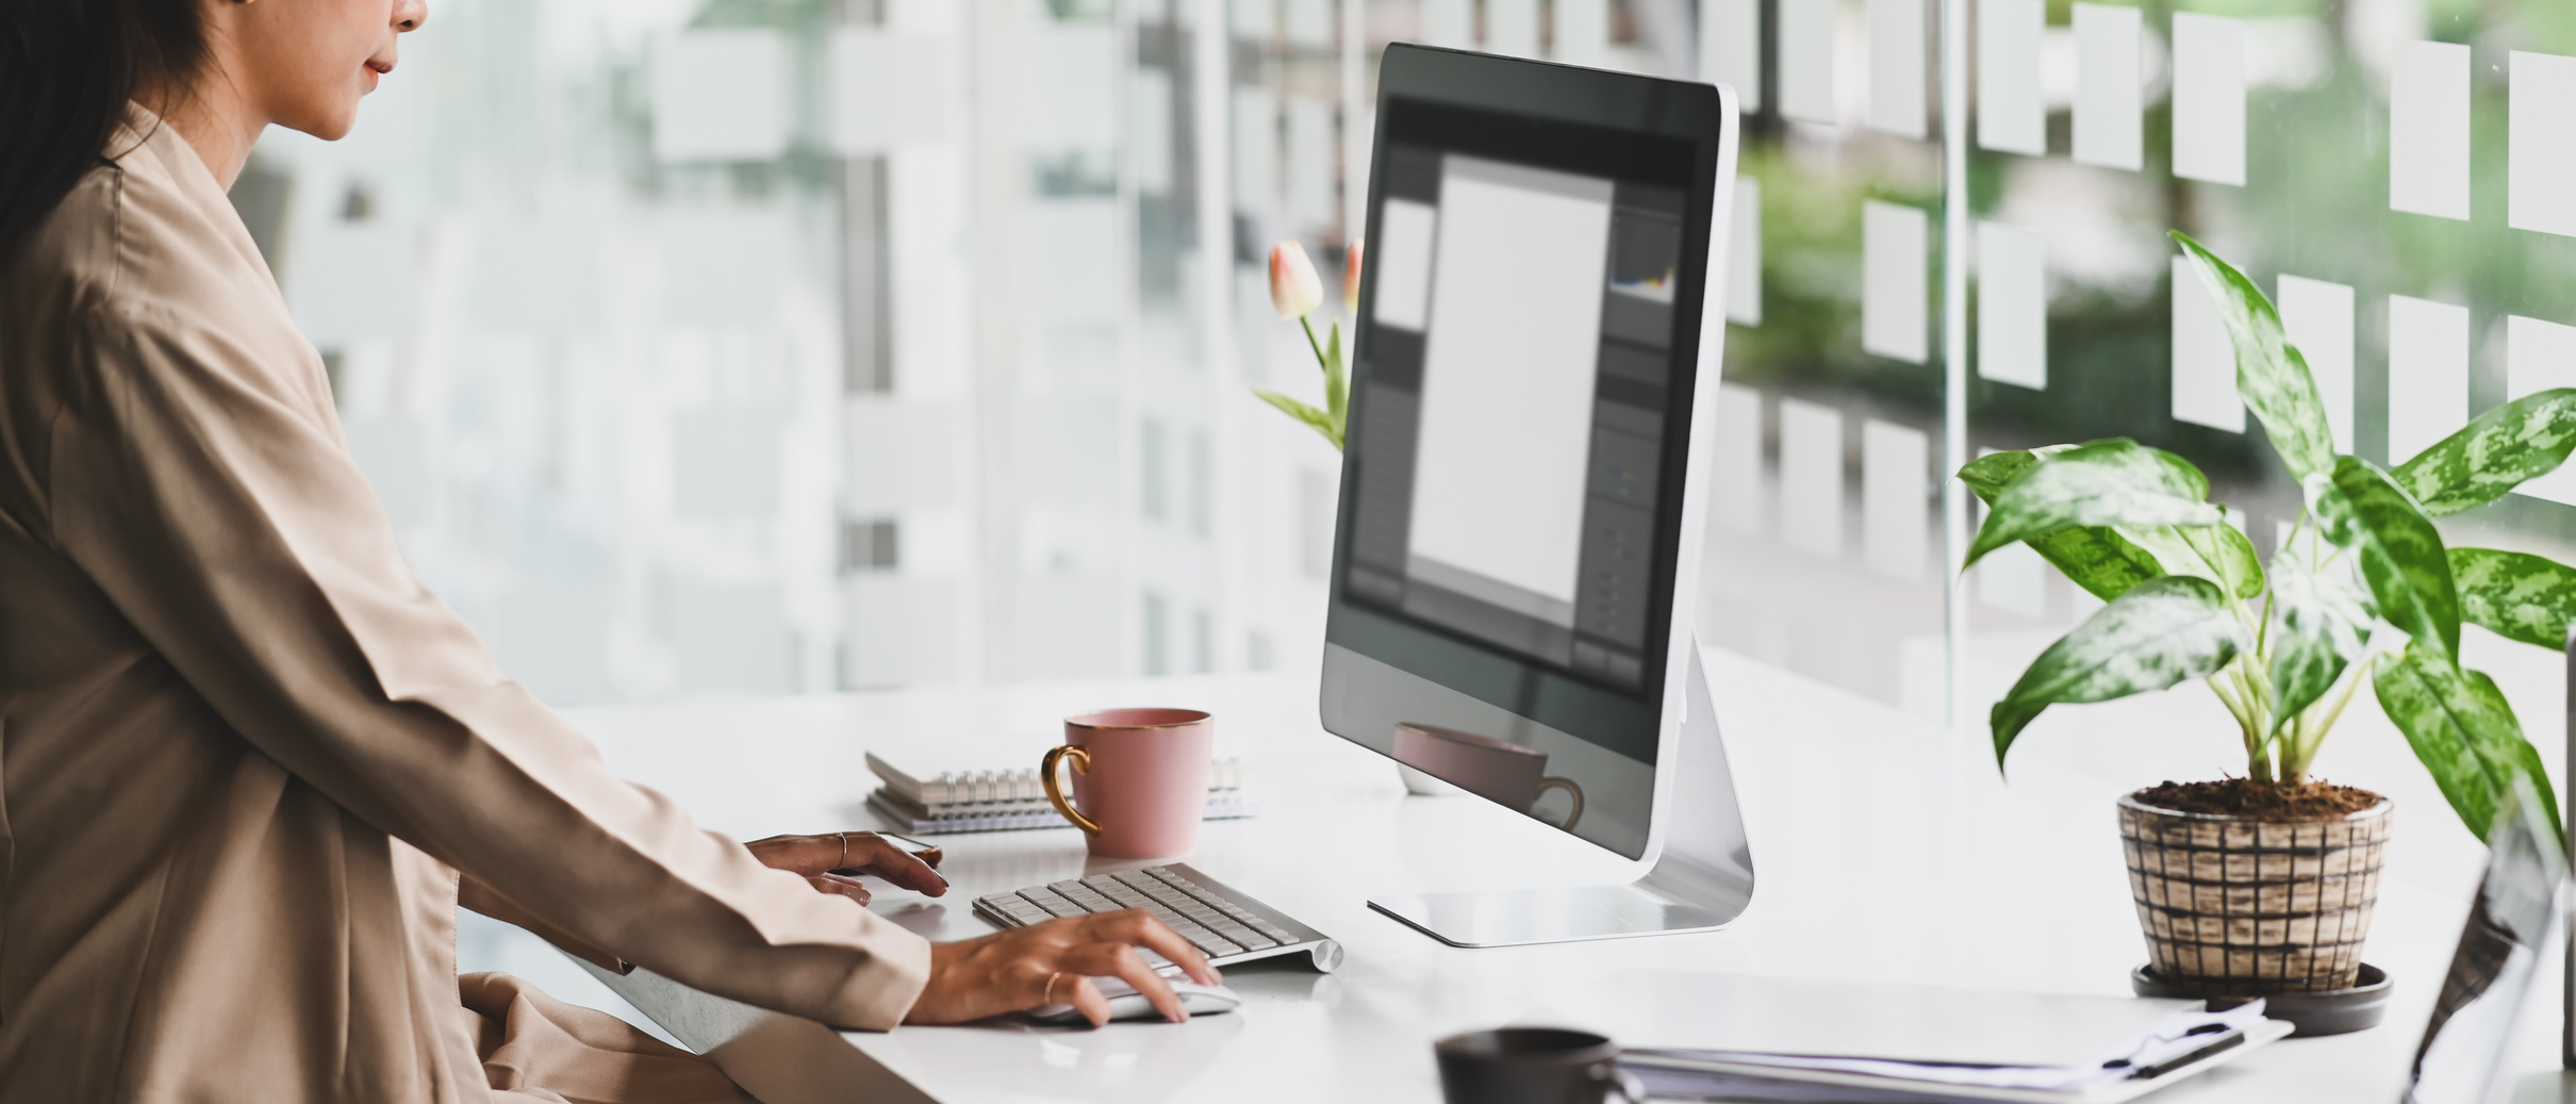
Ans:
[{"label": "slim white and silver keyboard in front of the pink mug", "polygon": [[[1288,914],[1190,870],[1185,862],[1030,885],[1018,893],[989,893],[974,901],[976,916],[999,926],[1118,908],[1154,914],[1154,919],[1182,939],[1190,939],[1218,968],[1293,952],[1311,955],[1314,968],[1324,973],[1342,965],[1342,944],[1324,937],[1324,932],[1298,924]],[[1154,952],[1144,952],[1144,960],[1170,965]]]}]

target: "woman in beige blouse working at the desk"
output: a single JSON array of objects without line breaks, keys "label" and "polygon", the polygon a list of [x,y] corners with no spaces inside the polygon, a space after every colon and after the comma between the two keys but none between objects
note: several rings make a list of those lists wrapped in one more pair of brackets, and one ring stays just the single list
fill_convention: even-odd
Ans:
[{"label": "woman in beige blouse working at the desk", "polygon": [[[832,870],[618,782],[420,587],[224,201],[270,124],[348,134],[422,0],[0,10],[0,1099],[737,1099],[502,975],[459,901],[840,1027],[1121,975],[1144,914],[927,944]],[[814,893],[814,890],[824,893]]]}]

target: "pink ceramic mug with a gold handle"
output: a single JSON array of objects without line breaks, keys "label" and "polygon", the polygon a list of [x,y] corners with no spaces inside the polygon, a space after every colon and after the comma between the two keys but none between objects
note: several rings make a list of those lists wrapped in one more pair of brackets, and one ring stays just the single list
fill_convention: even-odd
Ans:
[{"label": "pink ceramic mug with a gold handle", "polygon": [[[1038,764],[1046,800],[1082,829],[1100,857],[1146,860],[1198,844],[1208,813],[1208,754],[1216,721],[1200,710],[1100,710],[1064,718],[1064,746]],[[1074,764],[1074,800],[1056,785],[1056,759]]]}]

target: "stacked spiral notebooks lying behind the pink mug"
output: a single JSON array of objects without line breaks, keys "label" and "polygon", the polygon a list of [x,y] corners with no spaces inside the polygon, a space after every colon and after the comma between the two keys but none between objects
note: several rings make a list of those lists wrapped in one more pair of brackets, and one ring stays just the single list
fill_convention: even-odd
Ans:
[{"label": "stacked spiral notebooks lying behind the pink mug", "polygon": [[[889,754],[868,751],[868,769],[873,769],[884,782],[868,795],[868,808],[891,821],[894,831],[930,836],[943,831],[1066,826],[1064,816],[1046,803],[1046,782],[1038,777],[1038,757],[1046,754],[1043,744],[1036,751],[1012,757],[1025,759],[1025,767],[969,764],[971,769],[943,769],[938,775],[927,775],[891,762],[891,757],[927,759],[933,754],[945,757],[945,767],[958,767],[958,759],[976,759],[974,749],[922,746]],[[981,759],[992,759],[992,754],[984,754]],[[925,764],[927,762],[912,762],[912,767]],[[1257,811],[1260,808],[1244,798],[1242,759],[1216,759],[1208,772],[1208,818],[1229,821]]]}]

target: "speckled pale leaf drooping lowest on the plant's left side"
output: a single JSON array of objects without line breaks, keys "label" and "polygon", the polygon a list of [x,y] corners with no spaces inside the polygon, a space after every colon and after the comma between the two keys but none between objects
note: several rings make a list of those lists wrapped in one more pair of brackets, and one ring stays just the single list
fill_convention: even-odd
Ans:
[{"label": "speckled pale leaf drooping lowest on the plant's left side", "polygon": [[1994,764],[2004,764],[2014,736],[2050,705],[2166,690],[2226,667],[2239,646],[2218,584],[2179,574],[2141,582],[2050,643],[1994,703]]}]

